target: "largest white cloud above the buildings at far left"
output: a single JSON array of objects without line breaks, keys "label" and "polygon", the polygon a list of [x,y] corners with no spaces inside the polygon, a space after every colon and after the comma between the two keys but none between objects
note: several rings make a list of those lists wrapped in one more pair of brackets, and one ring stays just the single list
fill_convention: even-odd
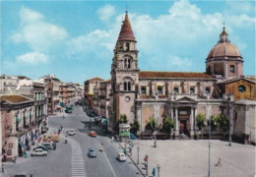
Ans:
[{"label": "largest white cloud above the buildings at far left", "polygon": [[15,43],[25,42],[34,51],[49,52],[68,36],[62,27],[45,22],[44,17],[29,8],[20,11],[21,27],[11,36]]}]

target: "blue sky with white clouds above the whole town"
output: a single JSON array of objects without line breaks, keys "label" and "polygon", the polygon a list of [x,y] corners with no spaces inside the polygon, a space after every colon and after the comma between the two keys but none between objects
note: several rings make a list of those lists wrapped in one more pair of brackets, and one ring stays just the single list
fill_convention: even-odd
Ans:
[{"label": "blue sky with white clouds above the whole town", "polygon": [[[127,4],[127,5],[126,5]],[[126,7],[141,71],[205,72],[225,26],[243,74],[255,74],[254,1],[7,1],[1,5],[1,74],[54,74],[83,84],[110,78]]]}]

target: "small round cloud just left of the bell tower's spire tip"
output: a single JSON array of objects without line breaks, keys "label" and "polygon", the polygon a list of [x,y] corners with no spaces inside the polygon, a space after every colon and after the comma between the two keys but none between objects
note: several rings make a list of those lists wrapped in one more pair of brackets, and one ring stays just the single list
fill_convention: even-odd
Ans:
[{"label": "small round cloud just left of the bell tower's spire tip", "polygon": [[110,4],[106,4],[105,6],[97,9],[96,14],[100,21],[107,22],[115,14],[115,7]]}]

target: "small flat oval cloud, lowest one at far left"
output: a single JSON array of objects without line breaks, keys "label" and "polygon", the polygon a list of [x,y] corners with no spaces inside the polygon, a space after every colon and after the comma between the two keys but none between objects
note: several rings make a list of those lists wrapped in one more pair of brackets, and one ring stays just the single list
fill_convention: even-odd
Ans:
[{"label": "small flat oval cloud, lowest one at far left", "polygon": [[43,53],[31,52],[16,57],[16,61],[20,64],[39,65],[47,63],[48,57]]}]

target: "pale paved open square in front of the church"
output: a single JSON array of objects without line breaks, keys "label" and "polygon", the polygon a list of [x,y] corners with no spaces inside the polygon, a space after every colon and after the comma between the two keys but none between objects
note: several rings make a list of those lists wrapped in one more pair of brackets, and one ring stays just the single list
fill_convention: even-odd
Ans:
[{"label": "pale paved open square in front of the church", "polygon": [[[120,143],[124,148],[125,144]],[[255,147],[240,144],[227,146],[227,142],[213,140],[211,144],[211,176],[218,177],[249,177],[255,173]],[[152,176],[153,168],[160,176],[174,177],[204,177],[208,175],[209,160],[208,141],[157,141],[154,148],[154,140],[136,140],[132,149],[132,159],[141,171],[146,174],[144,157],[148,153],[149,176]],[[139,163],[138,161],[139,147]],[[128,152],[128,155],[130,152]],[[215,166],[218,159],[222,158],[222,167]],[[158,176],[158,175],[156,175]]]}]

